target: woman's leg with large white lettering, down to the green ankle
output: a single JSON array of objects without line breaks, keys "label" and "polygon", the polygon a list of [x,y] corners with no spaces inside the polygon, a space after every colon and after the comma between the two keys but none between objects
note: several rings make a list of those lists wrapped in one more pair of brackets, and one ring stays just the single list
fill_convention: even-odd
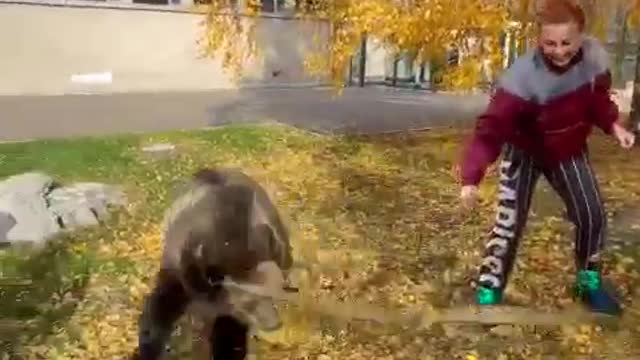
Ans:
[{"label": "woman's leg with large white lettering, down to the green ankle", "polygon": [[509,145],[500,163],[496,223],[480,267],[477,302],[499,303],[527,222],[531,196],[540,176],[533,158]]}]

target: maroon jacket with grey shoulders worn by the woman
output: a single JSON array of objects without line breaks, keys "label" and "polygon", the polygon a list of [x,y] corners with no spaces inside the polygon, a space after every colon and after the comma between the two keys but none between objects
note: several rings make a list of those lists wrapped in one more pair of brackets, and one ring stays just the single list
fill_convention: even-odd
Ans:
[{"label": "maroon jacket with grey shoulders worn by the woman", "polygon": [[542,166],[580,154],[593,125],[611,134],[618,108],[611,100],[608,55],[587,38],[564,71],[538,49],[518,58],[500,77],[486,111],[463,153],[463,185],[477,185],[510,143]]}]

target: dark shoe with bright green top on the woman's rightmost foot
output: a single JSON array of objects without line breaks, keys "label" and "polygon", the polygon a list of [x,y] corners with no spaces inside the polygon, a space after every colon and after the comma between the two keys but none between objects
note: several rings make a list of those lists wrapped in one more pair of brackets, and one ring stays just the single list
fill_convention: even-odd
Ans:
[{"label": "dark shoe with bright green top on the woman's rightmost foot", "polygon": [[602,278],[597,271],[578,272],[575,295],[593,312],[609,315],[622,313],[618,300],[602,286]]}]

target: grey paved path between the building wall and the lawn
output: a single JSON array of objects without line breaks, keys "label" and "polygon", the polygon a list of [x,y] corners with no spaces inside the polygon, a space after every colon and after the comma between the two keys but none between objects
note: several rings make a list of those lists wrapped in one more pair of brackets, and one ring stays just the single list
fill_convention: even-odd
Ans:
[{"label": "grey paved path between the building wall and the lawn", "polygon": [[380,133],[468,124],[486,96],[389,88],[0,97],[0,141],[276,120],[319,132]]}]

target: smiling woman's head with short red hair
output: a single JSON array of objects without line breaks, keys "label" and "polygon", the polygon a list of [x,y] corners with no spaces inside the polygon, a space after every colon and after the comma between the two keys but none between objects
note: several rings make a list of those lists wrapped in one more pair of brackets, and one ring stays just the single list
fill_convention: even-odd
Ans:
[{"label": "smiling woman's head with short red hair", "polygon": [[538,8],[538,44],[551,64],[565,67],[580,51],[585,15],[571,0],[543,0]]}]

